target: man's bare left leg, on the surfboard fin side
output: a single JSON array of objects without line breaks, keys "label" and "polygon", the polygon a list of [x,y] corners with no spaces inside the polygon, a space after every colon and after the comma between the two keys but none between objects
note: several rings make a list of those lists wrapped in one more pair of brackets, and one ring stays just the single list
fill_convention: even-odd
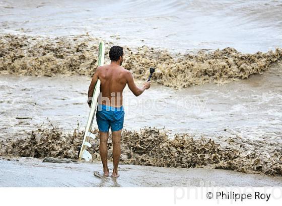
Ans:
[{"label": "man's bare left leg, on the surfboard fin side", "polygon": [[108,147],[107,147],[108,138],[109,138],[108,132],[101,132],[100,131],[99,152],[100,152],[101,160],[102,160],[102,163],[103,163],[103,170],[104,170],[105,176],[109,176]]}]

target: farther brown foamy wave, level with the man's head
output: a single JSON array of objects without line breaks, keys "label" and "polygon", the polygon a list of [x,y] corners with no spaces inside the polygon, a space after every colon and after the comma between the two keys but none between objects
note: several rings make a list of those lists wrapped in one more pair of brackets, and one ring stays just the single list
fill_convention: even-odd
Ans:
[{"label": "farther brown foamy wave, level with the man's head", "polygon": [[[29,37],[0,36],[0,72],[18,75],[93,76],[96,69],[99,39],[90,36]],[[106,63],[108,50],[106,43]],[[136,79],[145,80],[149,67],[156,67],[152,80],[173,88],[183,88],[206,82],[224,83],[262,73],[281,59],[282,49],[267,53],[242,54],[233,48],[197,54],[171,54],[147,46],[125,48],[124,68]]]}]

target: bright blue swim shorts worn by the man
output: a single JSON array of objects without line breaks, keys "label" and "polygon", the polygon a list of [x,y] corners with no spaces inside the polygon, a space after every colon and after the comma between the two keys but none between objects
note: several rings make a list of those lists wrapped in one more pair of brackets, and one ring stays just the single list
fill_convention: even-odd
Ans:
[{"label": "bright blue swim shorts worn by the man", "polygon": [[109,132],[110,127],[112,132],[119,131],[123,128],[124,109],[98,105],[96,120],[101,132]]}]

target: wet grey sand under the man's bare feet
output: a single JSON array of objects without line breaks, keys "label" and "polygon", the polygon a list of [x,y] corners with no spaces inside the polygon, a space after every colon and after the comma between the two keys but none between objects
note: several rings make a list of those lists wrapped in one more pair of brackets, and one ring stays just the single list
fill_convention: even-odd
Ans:
[{"label": "wet grey sand under the man's bare feet", "polygon": [[230,170],[119,165],[115,179],[94,175],[102,174],[101,163],[42,163],[35,158],[0,160],[0,168],[0,186],[5,187],[282,186],[282,177]]}]

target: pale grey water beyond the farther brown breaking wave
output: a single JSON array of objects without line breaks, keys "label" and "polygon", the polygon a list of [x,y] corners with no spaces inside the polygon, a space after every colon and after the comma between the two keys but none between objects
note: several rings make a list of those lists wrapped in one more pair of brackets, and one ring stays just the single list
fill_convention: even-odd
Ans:
[{"label": "pale grey water beyond the farther brown breaking wave", "polygon": [[282,2],[274,0],[0,1],[0,32],[89,33],[127,46],[170,51],[266,52],[282,46]]}]

